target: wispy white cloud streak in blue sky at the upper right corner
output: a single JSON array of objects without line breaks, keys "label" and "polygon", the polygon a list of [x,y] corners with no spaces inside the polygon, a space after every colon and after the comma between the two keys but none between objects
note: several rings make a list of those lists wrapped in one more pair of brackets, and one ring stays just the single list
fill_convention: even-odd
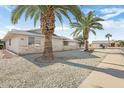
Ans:
[{"label": "wispy white cloud streak in blue sky at the upper right corner", "polygon": [[109,19],[123,13],[124,8],[105,8],[101,9],[100,12],[104,14],[104,16],[102,16],[104,19]]}]

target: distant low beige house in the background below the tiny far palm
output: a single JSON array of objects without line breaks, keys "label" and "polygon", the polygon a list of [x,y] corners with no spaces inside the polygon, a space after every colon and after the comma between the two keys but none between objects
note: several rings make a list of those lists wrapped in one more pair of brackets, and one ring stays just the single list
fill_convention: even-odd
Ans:
[{"label": "distant low beige house in the background below the tiny far palm", "polygon": [[[93,48],[101,48],[101,45],[105,47],[109,47],[109,43],[107,40],[100,40],[100,41],[92,41]],[[115,41],[110,41],[110,47],[115,47]]]}]

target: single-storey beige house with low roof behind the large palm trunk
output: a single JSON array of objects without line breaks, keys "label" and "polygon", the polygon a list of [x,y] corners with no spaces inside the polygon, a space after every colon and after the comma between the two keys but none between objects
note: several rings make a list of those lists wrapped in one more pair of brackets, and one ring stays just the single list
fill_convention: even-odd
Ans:
[{"label": "single-storey beige house with low roof behind the large palm trunk", "polygon": [[[6,41],[6,49],[17,54],[39,53],[44,49],[44,35],[40,29],[35,30],[12,30],[9,31],[4,40]],[[78,41],[53,34],[53,51],[63,51],[77,49]]]}]

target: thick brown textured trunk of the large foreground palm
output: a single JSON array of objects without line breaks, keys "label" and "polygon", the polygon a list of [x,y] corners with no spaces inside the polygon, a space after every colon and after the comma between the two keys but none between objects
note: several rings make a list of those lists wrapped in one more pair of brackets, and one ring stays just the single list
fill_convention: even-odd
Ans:
[{"label": "thick brown textured trunk of the large foreground palm", "polygon": [[53,60],[53,48],[52,48],[52,35],[55,29],[55,16],[54,16],[54,8],[52,5],[48,6],[48,13],[44,17],[44,52],[43,57],[47,60]]}]

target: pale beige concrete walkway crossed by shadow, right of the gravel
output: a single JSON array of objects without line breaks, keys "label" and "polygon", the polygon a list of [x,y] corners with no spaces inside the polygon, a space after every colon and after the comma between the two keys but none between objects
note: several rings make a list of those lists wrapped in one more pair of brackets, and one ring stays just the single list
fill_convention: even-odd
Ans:
[{"label": "pale beige concrete walkway crossed by shadow, right of the gravel", "polygon": [[124,88],[124,54],[120,49],[108,49],[107,56],[82,82],[79,88]]}]

